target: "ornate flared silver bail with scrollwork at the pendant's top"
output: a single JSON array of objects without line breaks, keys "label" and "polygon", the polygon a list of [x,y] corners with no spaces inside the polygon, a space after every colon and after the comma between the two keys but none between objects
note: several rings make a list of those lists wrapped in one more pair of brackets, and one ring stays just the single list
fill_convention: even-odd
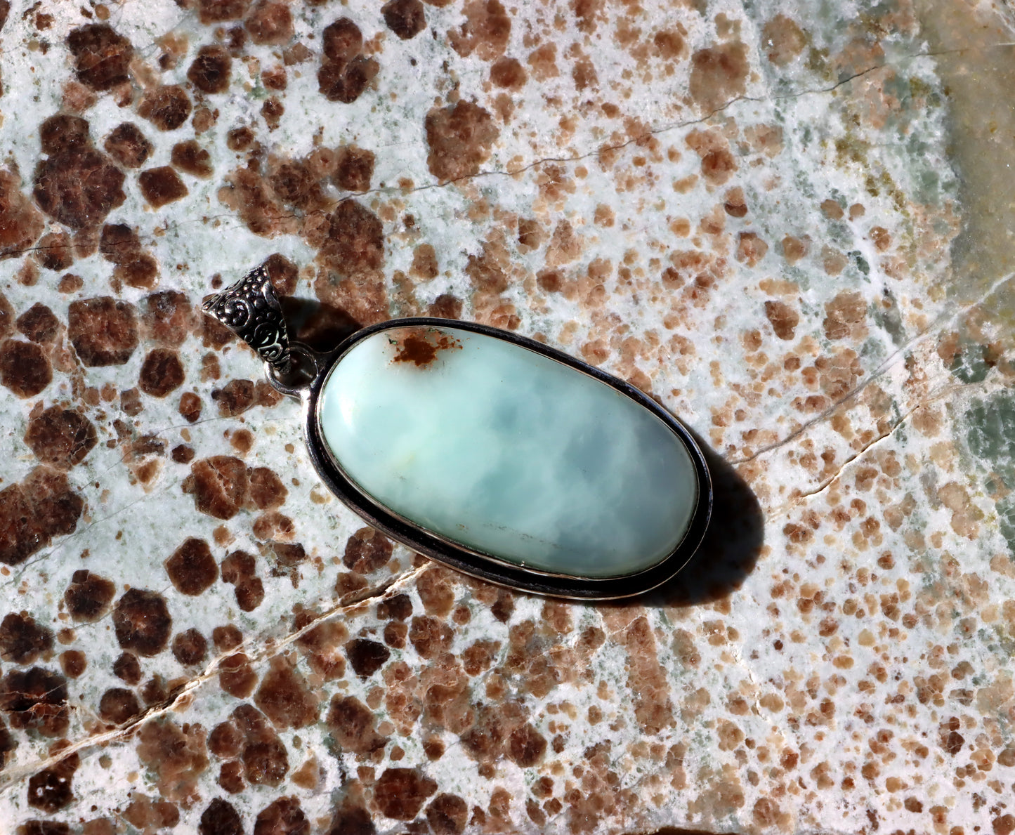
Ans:
[{"label": "ornate flared silver bail with scrollwork at the pendant's top", "polygon": [[263,265],[222,292],[208,296],[201,306],[257,351],[278,373],[285,374],[289,370],[292,362],[289,333],[282,305]]}]

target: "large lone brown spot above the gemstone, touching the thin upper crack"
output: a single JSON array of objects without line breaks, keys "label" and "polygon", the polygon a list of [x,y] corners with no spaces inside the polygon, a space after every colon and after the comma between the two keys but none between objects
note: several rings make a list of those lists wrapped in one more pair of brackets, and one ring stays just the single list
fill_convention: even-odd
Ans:
[{"label": "large lone brown spot above the gemstone, touching the thin upper crack", "polygon": [[442,183],[472,177],[490,156],[499,132],[489,112],[464,99],[426,115],[426,164]]}]

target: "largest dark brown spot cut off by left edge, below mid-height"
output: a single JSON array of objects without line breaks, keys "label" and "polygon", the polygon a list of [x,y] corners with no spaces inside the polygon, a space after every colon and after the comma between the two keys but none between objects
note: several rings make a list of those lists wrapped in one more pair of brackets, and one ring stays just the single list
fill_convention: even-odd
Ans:
[{"label": "largest dark brown spot cut off by left edge, below mid-height", "polygon": [[36,468],[0,491],[0,562],[17,565],[53,537],[73,533],[83,509],[63,473]]}]

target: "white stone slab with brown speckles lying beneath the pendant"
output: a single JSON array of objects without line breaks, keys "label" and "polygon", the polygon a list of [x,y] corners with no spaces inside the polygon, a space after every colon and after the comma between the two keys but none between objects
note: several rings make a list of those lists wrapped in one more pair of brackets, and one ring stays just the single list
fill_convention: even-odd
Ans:
[{"label": "white stone slab with brown speckles lying beneath the pendant", "polygon": [[[1006,14],[0,0],[0,831],[1015,831]],[[319,347],[651,393],[699,556],[579,605],[365,528],[199,312],[265,261]]]}]

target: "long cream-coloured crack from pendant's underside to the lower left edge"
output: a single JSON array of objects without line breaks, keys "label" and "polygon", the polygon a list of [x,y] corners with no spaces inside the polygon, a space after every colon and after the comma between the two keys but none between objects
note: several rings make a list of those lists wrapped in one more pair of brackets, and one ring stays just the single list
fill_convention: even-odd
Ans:
[{"label": "long cream-coloured crack from pendant's underside to the lower left edge", "polygon": [[[306,626],[301,627],[300,629],[297,629],[290,635],[285,636],[280,641],[272,644],[268,648],[262,647],[260,651],[255,652],[253,649],[251,649],[253,642],[255,641],[255,638],[251,638],[249,641],[244,641],[239,646],[233,647],[233,649],[230,650],[228,654],[218,655],[217,657],[212,658],[208,663],[207,667],[205,667],[203,673],[201,673],[198,676],[195,676],[186,684],[181,685],[178,689],[174,691],[173,694],[170,695],[168,698],[150,705],[149,707],[145,708],[137,715],[132,716],[127,721],[123,722],[113,730],[108,730],[105,734],[97,734],[93,737],[89,737],[86,740],[82,740],[78,743],[73,743],[72,745],[69,745],[66,748],[61,749],[59,753],[51,757],[47,757],[46,759],[39,760],[33,763],[26,763],[24,765],[17,766],[15,768],[5,769],[3,772],[0,772],[0,794],[14,787],[16,783],[20,782],[25,777],[29,777],[32,774],[36,774],[45,769],[53,768],[54,766],[66,760],[72,754],[76,754],[77,752],[82,751],[84,749],[93,747],[106,747],[108,745],[116,743],[121,739],[130,736],[131,732],[134,728],[139,727],[144,722],[150,719],[155,719],[160,716],[173,713],[177,710],[178,707],[179,708],[186,707],[188,697],[192,693],[197,691],[203,684],[214,678],[214,676],[217,675],[218,673],[218,668],[221,665],[221,663],[230,655],[234,654],[235,652],[242,649],[250,649],[252,654],[248,663],[251,665],[255,664],[263,665],[265,662],[268,662],[271,658],[278,655],[283,649],[291,645],[293,642],[299,640],[299,638],[301,638],[312,629],[327,622],[331,618],[345,614],[346,612],[350,612],[359,607],[368,605],[375,601],[380,602],[394,597],[396,592],[398,592],[400,588],[402,588],[405,584],[407,584],[411,580],[418,577],[420,574],[426,571],[431,565],[432,563],[429,560],[427,560],[422,565],[416,566],[415,568],[410,568],[409,570],[404,571],[401,574],[397,574],[393,577],[389,577],[385,582],[381,583],[375,588],[364,589],[360,595],[356,596],[351,600],[342,601],[341,603],[332,607],[324,614],[315,618]],[[69,707],[73,707],[73,709],[78,709],[76,706],[69,705]]]}]

